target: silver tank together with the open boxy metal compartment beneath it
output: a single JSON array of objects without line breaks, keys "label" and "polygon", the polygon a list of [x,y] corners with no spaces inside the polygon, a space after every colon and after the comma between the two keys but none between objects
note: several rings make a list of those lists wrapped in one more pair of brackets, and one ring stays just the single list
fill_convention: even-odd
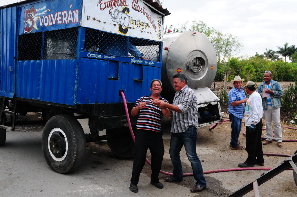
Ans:
[{"label": "silver tank together with the open boxy metal compartment beneath it", "polygon": [[163,38],[162,97],[172,103],[176,90],[173,75],[184,73],[194,90],[198,107],[198,127],[219,123],[219,98],[209,89],[217,72],[217,55],[206,36],[197,31],[165,34]]}]

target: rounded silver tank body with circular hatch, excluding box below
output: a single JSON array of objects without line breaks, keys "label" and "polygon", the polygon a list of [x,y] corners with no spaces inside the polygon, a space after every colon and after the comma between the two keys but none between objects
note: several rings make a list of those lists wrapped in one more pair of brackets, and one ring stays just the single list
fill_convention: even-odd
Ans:
[{"label": "rounded silver tank body with circular hatch, excluding box below", "polygon": [[[217,56],[209,39],[198,31],[164,34],[161,81],[171,94],[175,92],[173,75],[188,77],[192,89],[210,87],[217,72]],[[168,92],[168,93],[169,93]]]}]

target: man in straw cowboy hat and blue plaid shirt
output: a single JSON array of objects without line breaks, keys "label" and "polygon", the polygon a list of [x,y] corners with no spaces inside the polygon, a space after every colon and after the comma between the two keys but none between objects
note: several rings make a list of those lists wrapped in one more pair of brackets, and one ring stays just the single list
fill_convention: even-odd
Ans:
[{"label": "man in straw cowboy hat and blue plaid shirt", "polygon": [[244,79],[241,79],[238,75],[234,77],[233,82],[234,87],[229,91],[229,119],[231,122],[231,142],[230,147],[232,150],[242,150],[243,147],[240,146],[238,142],[239,133],[241,131],[241,119],[244,114],[244,104],[247,102],[247,97],[245,96],[244,90],[241,87]]}]

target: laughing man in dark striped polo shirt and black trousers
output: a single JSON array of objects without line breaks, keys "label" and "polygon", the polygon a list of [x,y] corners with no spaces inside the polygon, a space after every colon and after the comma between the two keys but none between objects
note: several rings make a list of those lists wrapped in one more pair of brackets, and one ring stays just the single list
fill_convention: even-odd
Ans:
[{"label": "laughing man in dark striped polo shirt and black trousers", "polygon": [[160,96],[162,83],[160,80],[151,81],[151,95],[140,97],[131,111],[132,116],[139,114],[135,131],[135,159],[133,162],[130,190],[138,192],[137,184],[140,173],[146,162],[146,152],[151,152],[151,184],[162,189],[163,184],[159,182],[158,176],[164,155],[164,145],[161,131],[161,120],[163,116],[169,117],[170,110],[160,109],[156,104],[158,101],[168,103]]}]

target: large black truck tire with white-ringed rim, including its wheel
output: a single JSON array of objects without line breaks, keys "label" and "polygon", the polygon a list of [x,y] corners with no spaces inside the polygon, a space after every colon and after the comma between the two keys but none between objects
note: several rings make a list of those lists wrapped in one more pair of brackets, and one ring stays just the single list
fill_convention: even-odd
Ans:
[{"label": "large black truck tire with white-ringed rim, including its wheel", "polygon": [[86,138],[80,123],[69,115],[51,117],[43,129],[42,150],[54,171],[68,173],[77,169],[86,152]]}]

